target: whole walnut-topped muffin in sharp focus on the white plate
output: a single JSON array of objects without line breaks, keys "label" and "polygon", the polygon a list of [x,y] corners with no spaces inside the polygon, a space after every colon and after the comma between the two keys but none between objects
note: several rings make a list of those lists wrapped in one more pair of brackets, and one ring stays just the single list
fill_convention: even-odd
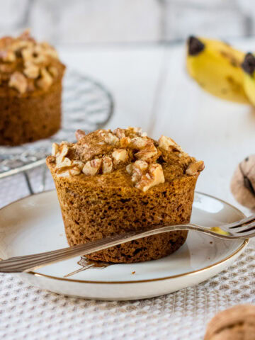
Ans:
[{"label": "whole walnut-topped muffin in sharp focus on the white plate", "polygon": [[[70,246],[140,229],[189,222],[203,161],[169,137],[139,128],[77,131],[77,143],[52,146],[47,157]],[[86,255],[132,263],[179,249],[188,232],[158,234]]]}]

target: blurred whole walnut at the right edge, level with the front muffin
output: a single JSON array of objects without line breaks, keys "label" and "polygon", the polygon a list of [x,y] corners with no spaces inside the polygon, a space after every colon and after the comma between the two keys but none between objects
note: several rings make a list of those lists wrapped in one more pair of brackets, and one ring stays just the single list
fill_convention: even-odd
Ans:
[{"label": "blurred whole walnut at the right edge, level with the front muffin", "polygon": [[255,154],[238,164],[230,188],[237,202],[251,210],[255,209]]}]

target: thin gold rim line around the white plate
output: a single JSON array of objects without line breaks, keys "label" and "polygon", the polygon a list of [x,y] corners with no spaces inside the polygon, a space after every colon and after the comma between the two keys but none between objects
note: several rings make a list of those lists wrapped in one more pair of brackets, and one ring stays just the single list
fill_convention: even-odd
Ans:
[{"label": "thin gold rim line around the white plate", "polygon": [[[52,193],[53,191],[55,191],[55,190],[47,190],[47,191],[43,191],[42,193],[35,193],[35,194],[33,194],[33,196],[43,195],[44,193]],[[215,196],[208,195],[208,193],[201,193],[200,191],[196,191],[195,193],[198,193],[199,195],[203,195],[203,196],[208,196],[210,198],[214,198],[215,200],[219,200],[220,202],[228,205],[229,207],[231,207],[234,210],[236,210],[237,212],[239,212],[239,214],[241,214],[242,217],[246,217],[241,210],[234,207],[234,205],[225,202],[225,200],[221,200],[220,198],[216,198]],[[4,208],[7,208],[10,205],[18,203],[21,200],[26,200],[26,198],[29,198],[29,197],[31,197],[31,196],[26,196],[26,197],[20,198],[19,200],[15,200],[14,202],[9,203],[8,205],[5,205],[4,207],[2,207],[0,209],[0,212]],[[113,285],[113,284],[119,285],[119,284],[125,284],[125,283],[146,283],[146,282],[162,281],[162,280],[169,280],[171,278],[180,278],[182,276],[193,276],[194,274],[201,273],[203,271],[208,270],[209,268],[215,268],[217,266],[220,266],[220,264],[225,263],[226,261],[231,259],[233,256],[238,254],[239,251],[242,251],[242,249],[244,249],[248,243],[249,243],[249,239],[244,239],[244,242],[239,246],[239,248],[236,251],[234,251],[231,255],[227,256],[225,259],[222,259],[221,261],[218,261],[218,262],[212,264],[211,266],[207,266],[205,268],[201,268],[201,269],[198,269],[196,271],[190,271],[188,273],[182,273],[182,274],[177,274],[177,275],[173,275],[173,276],[166,276],[164,278],[150,278],[150,279],[147,279],[147,280],[132,280],[132,281],[90,281],[90,280],[77,280],[77,279],[72,279],[72,278],[58,278],[57,276],[50,276],[50,275],[42,274],[42,273],[35,273],[35,271],[28,271],[27,273],[26,272],[25,273],[28,274],[28,275],[33,275],[33,276],[38,276],[38,277],[43,277],[43,278],[51,278],[52,280],[61,280],[61,281],[68,281],[68,282],[74,282],[74,283],[106,284],[106,285]],[[1,260],[3,260],[3,259],[0,259],[0,261]]]}]

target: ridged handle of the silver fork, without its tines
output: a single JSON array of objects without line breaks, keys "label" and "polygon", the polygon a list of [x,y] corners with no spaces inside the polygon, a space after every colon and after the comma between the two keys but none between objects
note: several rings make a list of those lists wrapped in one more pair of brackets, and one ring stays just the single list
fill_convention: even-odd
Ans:
[{"label": "ridged handle of the silver fork, without its tines", "polygon": [[[35,268],[40,268],[48,264],[56,263],[59,261],[72,259],[79,255],[86,255],[110,248],[111,246],[117,246],[126,242],[133,241],[135,239],[141,239],[142,237],[152,236],[154,234],[162,234],[163,232],[171,232],[174,230],[198,230],[195,225],[169,225],[166,227],[160,227],[157,229],[150,229],[146,232],[128,232],[127,234],[115,235],[112,237],[106,237],[104,239],[98,239],[97,241],[88,242],[86,244],[79,244],[78,246],[71,246],[64,249],[58,249],[55,251],[46,251],[45,253],[33,254],[28,256],[11,257],[0,261],[1,273],[21,273],[23,271],[31,271]],[[211,234],[211,233],[210,233]]]}]

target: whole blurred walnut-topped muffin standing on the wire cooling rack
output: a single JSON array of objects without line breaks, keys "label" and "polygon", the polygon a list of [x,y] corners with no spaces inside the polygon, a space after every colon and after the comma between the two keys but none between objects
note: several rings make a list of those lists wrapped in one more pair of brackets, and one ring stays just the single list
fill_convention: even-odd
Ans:
[{"label": "whole blurred walnut-topped muffin standing on the wire cooling rack", "polygon": [[64,64],[26,30],[0,39],[0,145],[21,145],[60,129]]}]

